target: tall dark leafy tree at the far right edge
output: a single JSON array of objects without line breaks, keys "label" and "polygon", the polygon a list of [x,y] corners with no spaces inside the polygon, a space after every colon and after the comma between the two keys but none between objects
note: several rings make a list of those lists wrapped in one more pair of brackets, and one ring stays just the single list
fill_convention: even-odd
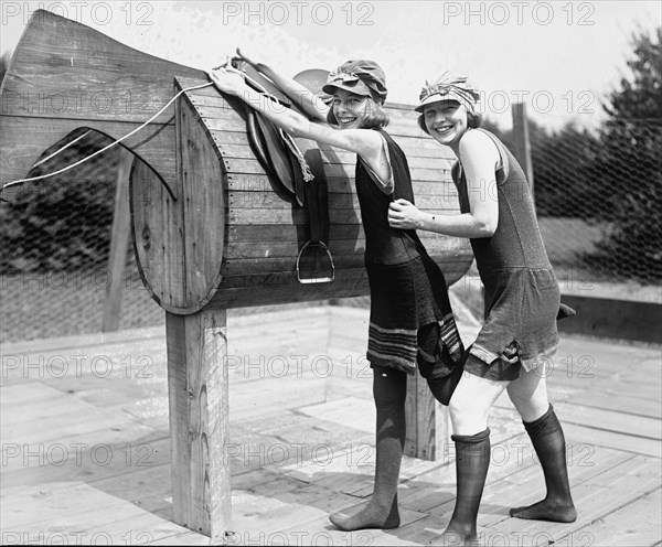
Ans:
[{"label": "tall dark leafy tree at the far right edge", "polygon": [[[611,229],[592,262],[659,282],[662,278],[662,28],[632,36],[631,71],[605,104],[600,187]],[[633,254],[634,249],[634,254]],[[628,257],[634,257],[634,265]]]}]

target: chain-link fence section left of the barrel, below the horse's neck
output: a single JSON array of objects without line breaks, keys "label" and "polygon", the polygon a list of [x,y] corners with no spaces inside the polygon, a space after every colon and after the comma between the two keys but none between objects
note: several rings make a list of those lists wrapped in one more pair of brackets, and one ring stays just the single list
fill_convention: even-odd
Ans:
[{"label": "chain-link fence section left of the barrel, below the horse's neck", "polygon": [[[54,172],[109,142],[89,132],[29,176]],[[24,183],[11,202],[0,203],[0,341],[102,331],[118,184],[119,199],[128,200],[118,157],[111,148],[66,173]],[[130,245],[121,289],[120,329],[162,324],[163,311],[145,290]]]}]

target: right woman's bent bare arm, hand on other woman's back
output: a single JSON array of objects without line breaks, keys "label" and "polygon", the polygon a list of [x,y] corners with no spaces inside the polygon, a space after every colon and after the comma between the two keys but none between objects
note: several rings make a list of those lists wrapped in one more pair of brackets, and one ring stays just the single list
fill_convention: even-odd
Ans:
[{"label": "right woman's bent bare arm, hand on other woman's back", "polygon": [[425,213],[406,200],[391,204],[388,223],[394,228],[424,229],[456,237],[491,237],[499,225],[495,168],[499,150],[480,131],[468,131],[460,141],[460,162],[467,176],[469,213]]}]

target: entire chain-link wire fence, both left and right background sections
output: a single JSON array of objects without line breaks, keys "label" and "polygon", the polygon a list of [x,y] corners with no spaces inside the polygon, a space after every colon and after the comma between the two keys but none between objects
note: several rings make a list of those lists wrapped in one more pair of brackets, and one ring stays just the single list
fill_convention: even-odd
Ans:
[{"label": "entire chain-link wire fence, both left and right background sections", "polygon": [[[512,147],[511,135],[501,137]],[[90,132],[30,175],[68,165],[107,142]],[[661,121],[615,121],[594,132],[532,125],[531,149],[541,229],[562,290],[659,300]],[[128,181],[118,182],[117,172],[113,148],[67,173],[26,183],[11,203],[0,204],[1,341],[100,331],[118,184],[128,199]],[[120,329],[162,324],[163,311],[143,288],[130,246],[121,286]]]}]

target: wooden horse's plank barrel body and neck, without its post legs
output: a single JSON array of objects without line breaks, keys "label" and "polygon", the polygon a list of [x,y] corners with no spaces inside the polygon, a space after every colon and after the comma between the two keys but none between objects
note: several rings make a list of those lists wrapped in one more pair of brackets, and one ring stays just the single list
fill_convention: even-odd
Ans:
[{"label": "wooden horse's plank barrel body and neck, without its post legs", "polygon": [[[25,176],[45,150],[92,129],[119,139],[206,83],[194,68],[147,55],[86,25],[36,10],[0,89],[0,182]],[[410,106],[386,105],[386,128],[407,154],[416,203],[455,213],[450,151],[417,127]],[[131,223],[139,269],[167,311],[232,308],[369,293],[354,191],[355,155],[321,147],[329,190],[332,282],[302,285],[296,259],[310,238],[306,208],[263,169],[239,101],[214,87],[186,90],[122,140],[135,154]],[[3,193],[40,191],[40,182]],[[469,268],[467,240],[420,234],[449,283]]]}]

